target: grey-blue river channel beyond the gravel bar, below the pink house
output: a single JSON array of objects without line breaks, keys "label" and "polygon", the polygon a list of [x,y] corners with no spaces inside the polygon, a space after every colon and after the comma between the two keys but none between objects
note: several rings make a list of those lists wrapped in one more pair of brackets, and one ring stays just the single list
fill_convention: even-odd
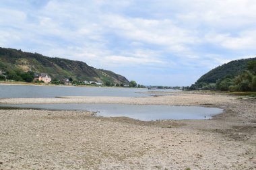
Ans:
[{"label": "grey-blue river channel beyond the gravel bar, below the pink house", "polygon": [[173,91],[172,89],[137,89],[111,87],[67,87],[36,85],[0,85],[0,98],[49,98],[59,96],[115,96],[146,97],[149,91]]}]

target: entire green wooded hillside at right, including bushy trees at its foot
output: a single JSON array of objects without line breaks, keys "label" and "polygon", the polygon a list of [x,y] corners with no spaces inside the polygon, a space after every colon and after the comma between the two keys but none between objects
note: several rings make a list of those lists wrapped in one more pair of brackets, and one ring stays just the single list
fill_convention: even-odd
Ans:
[{"label": "entire green wooded hillside at right, including bushy trees at its foot", "polygon": [[233,60],[216,67],[188,89],[256,91],[256,58]]}]

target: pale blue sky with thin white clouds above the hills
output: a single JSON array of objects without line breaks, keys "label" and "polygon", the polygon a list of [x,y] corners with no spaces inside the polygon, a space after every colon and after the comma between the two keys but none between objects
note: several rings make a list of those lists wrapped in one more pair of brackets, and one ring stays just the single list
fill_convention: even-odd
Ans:
[{"label": "pale blue sky with thin white clouds above the hills", "polygon": [[255,57],[255,0],[0,0],[0,46],[187,86]]}]

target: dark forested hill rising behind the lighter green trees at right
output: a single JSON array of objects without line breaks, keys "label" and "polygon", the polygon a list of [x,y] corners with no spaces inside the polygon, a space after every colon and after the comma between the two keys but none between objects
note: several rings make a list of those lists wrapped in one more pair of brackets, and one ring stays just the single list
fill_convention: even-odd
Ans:
[{"label": "dark forested hill rising behind the lighter green trees at right", "polygon": [[247,63],[252,60],[256,60],[256,58],[232,60],[224,65],[212,69],[200,77],[195,84],[216,83],[218,79],[224,79],[226,77],[234,78],[243,71],[247,70]]}]

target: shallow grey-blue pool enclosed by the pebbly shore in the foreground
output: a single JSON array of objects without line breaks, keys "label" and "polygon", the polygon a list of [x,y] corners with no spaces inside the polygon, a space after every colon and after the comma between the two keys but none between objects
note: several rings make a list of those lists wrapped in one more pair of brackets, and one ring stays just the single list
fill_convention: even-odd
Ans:
[{"label": "shallow grey-blue pool enclosed by the pebbly shore in the foreground", "polygon": [[199,106],[173,105],[128,105],[128,104],[20,104],[0,105],[0,108],[32,108],[43,110],[88,110],[97,112],[98,116],[125,116],[137,120],[201,120],[209,119],[223,112],[219,108],[204,108]]}]

